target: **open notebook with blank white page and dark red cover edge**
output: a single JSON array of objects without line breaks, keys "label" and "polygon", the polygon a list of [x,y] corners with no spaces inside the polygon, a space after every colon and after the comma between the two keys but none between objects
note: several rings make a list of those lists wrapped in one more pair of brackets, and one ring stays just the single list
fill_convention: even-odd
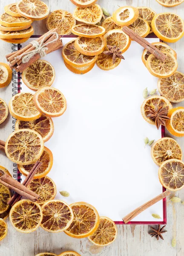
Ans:
[{"label": "open notebook with blank white page and dark red cover edge", "polygon": [[[29,39],[32,40],[34,36]],[[71,40],[71,36],[63,37],[63,45]],[[157,78],[141,61],[142,51],[132,41],[123,54],[125,60],[114,70],[103,71],[95,65],[83,76],[65,67],[61,49],[43,58],[55,68],[52,86],[67,101],[63,116],[53,118],[55,131],[45,143],[54,156],[48,176],[56,183],[56,198],[69,204],[86,201],[116,224],[123,224],[126,214],[163,191],[151,148],[144,148],[144,138],[158,140],[161,130],[157,131],[141,116],[144,88],[157,88]],[[22,82],[18,91],[32,90]],[[68,191],[69,198],[63,198],[61,190]],[[152,213],[159,214],[161,219],[154,219]],[[131,221],[156,223],[166,223],[165,199]]]}]

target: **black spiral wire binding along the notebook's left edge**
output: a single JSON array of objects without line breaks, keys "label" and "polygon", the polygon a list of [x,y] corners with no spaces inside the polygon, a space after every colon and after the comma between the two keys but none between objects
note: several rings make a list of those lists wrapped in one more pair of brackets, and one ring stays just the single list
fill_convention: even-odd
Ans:
[{"label": "black spiral wire binding along the notebook's left edge", "polygon": [[[21,47],[22,46],[20,44],[12,44],[11,52],[16,52]],[[18,93],[18,90],[22,89],[20,87],[20,85],[22,84],[22,82],[19,81],[20,79],[21,79],[20,73],[17,73],[15,70],[12,70],[12,79],[11,79],[12,80],[12,97]],[[13,119],[12,120],[12,128],[13,128],[13,130],[15,130],[15,123],[16,123],[17,119],[14,117],[12,117],[12,119]],[[21,176],[22,176],[22,174],[19,173],[17,163],[13,163],[13,177],[17,181],[20,182],[20,181],[22,181]]]}]

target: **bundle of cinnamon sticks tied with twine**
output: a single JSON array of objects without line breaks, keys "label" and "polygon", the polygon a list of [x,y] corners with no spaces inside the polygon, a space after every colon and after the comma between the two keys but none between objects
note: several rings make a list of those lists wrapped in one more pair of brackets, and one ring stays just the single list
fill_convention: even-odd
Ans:
[{"label": "bundle of cinnamon sticks tied with twine", "polygon": [[[58,28],[48,31],[35,41],[16,52],[11,52],[6,55],[6,59],[9,61],[11,69],[15,69],[17,72],[22,73],[23,70],[37,61],[40,57],[63,47],[61,36],[58,35]],[[23,61],[25,60],[26,55],[30,56],[27,62]]]}]

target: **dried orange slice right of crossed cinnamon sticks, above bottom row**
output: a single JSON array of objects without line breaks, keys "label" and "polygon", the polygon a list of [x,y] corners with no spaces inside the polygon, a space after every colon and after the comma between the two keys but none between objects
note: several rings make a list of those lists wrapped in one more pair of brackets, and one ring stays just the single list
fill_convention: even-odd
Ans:
[{"label": "dried orange slice right of crossed cinnamon sticks, above bottom row", "polygon": [[37,203],[41,205],[54,199],[57,193],[54,181],[47,176],[32,180],[28,188],[40,196]]}]

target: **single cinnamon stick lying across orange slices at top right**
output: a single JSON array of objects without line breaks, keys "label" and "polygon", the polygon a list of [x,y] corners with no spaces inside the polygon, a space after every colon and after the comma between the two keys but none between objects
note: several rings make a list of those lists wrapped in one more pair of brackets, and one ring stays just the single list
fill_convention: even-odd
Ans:
[{"label": "single cinnamon stick lying across orange slices at top right", "polygon": [[151,52],[156,58],[160,61],[164,61],[166,59],[166,55],[158,50],[154,45],[150,44],[146,39],[142,38],[140,35],[135,33],[132,29],[129,29],[127,26],[122,28],[123,32],[126,33],[132,40],[140,44],[142,47]]}]

